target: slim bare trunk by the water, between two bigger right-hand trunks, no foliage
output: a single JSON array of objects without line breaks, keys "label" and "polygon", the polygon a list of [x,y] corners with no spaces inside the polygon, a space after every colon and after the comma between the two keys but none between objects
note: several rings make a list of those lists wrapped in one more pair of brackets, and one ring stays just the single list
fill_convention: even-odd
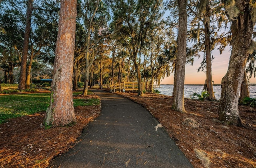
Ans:
[{"label": "slim bare trunk by the water, between two bigger right-hand trunks, no foliage", "polygon": [[209,93],[208,99],[214,100],[214,91],[212,86],[212,60],[211,60],[211,41],[210,41],[210,5],[209,0],[206,4],[206,17],[204,17],[204,35],[205,35],[205,51],[206,51],[206,86]]}]

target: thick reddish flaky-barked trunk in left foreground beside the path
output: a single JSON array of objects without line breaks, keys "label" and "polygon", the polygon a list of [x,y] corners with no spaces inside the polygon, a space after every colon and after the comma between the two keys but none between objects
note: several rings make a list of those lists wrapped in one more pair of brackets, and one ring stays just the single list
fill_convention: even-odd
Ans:
[{"label": "thick reddish flaky-barked trunk in left foreground beside the path", "polygon": [[76,121],[72,94],[75,31],[76,0],[61,0],[52,94],[46,111],[46,125],[64,126]]}]

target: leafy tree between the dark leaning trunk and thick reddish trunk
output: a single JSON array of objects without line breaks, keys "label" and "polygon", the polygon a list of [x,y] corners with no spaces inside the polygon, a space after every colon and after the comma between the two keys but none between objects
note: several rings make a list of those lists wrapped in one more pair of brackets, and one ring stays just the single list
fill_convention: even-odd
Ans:
[{"label": "leafy tree between the dark leaning trunk and thick reddish trunk", "polygon": [[40,59],[40,55],[48,54],[49,52],[46,51],[46,48],[47,50],[50,50],[55,46],[58,29],[58,3],[52,2],[52,0],[48,0],[47,2],[44,1],[40,4],[35,3],[33,9],[36,10],[34,10],[33,13],[33,28],[30,30],[26,89],[30,88],[33,61],[35,59]]}]

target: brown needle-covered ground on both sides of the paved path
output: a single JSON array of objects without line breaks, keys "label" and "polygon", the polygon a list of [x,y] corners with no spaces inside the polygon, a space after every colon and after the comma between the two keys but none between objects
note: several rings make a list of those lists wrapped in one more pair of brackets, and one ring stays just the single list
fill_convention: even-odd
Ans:
[{"label": "brown needle-covered ground on both sides of the paved path", "polygon": [[[255,108],[239,107],[248,127],[242,128],[218,121],[218,102],[185,99],[188,113],[181,114],[171,110],[170,96],[120,94],[150,111],[195,168],[256,168]],[[84,98],[91,96],[96,95]],[[76,107],[78,122],[71,127],[40,127],[44,113],[10,119],[0,125],[1,167],[47,167],[52,158],[72,148],[87,123],[100,115],[100,106]]]}]

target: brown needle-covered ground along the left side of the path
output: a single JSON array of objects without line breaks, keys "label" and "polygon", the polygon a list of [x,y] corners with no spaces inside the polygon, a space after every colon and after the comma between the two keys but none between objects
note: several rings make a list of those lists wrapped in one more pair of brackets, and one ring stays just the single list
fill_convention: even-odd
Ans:
[{"label": "brown needle-covered ground along the left side of the path", "polygon": [[[79,98],[98,96],[90,94]],[[45,111],[8,119],[0,125],[0,167],[48,167],[52,158],[72,148],[83,128],[100,115],[100,110],[100,105],[75,107],[77,122],[74,125],[50,129],[42,127]]]}]

